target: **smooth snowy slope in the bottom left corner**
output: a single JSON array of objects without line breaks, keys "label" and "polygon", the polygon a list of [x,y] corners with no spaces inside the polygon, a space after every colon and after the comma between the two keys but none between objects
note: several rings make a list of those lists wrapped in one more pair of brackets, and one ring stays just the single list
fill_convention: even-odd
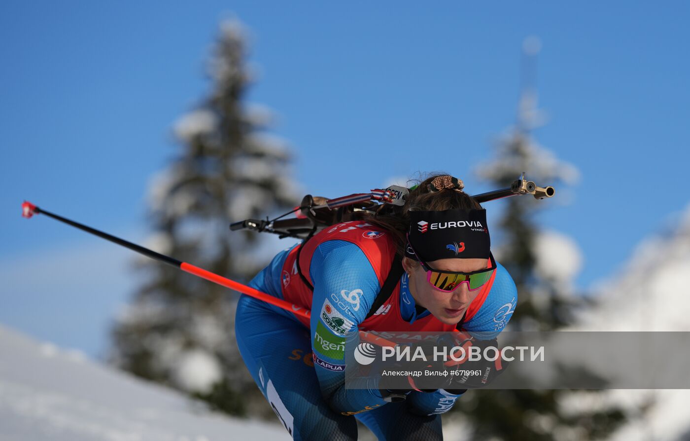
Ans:
[{"label": "smooth snowy slope in the bottom left corner", "polygon": [[0,326],[0,441],[288,440]]}]

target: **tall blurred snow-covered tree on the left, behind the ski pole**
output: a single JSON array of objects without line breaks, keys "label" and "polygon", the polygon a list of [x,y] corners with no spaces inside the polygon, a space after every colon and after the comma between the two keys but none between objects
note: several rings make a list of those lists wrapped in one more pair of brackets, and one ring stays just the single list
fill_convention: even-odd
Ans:
[{"label": "tall blurred snow-covered tree on the left, behind the ski pole", "polygon": [[[230,233],[230,222],[299,200],[288,179],[288,149],[266,133],[270,112],[244,101],[252,82],[246,57],[242,26],[222,23],[209,65],[212,89],[175,124],[181,151],[152,180],[148,242],[159,253],[241,282],[266,256],[254,252],[256,233]],[[235,343],[237,293],[159,262],[137,264],[145,282],[115,324],[112,362],[244,413],[260,393]]]}]

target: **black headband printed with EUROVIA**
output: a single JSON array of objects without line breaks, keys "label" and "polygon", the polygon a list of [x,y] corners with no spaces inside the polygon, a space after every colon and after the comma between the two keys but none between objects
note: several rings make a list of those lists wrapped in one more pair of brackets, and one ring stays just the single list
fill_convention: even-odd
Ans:
[{"label": "black headband printed with EUROVIA", "polygon": [[[431,262],[437,259],[488,259],[491,238],[486,210],[411,211],[405,255]],[[418,257],[417,257],[418,256]]]}]

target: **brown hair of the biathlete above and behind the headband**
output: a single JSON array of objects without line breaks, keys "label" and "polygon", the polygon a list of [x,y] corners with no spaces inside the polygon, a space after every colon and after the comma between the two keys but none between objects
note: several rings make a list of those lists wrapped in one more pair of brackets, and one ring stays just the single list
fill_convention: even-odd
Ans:
[{"label": "brown hair of the biathlete above and behind the headband", "polygon": [[405,255],[406,234],[410,228],[410,211],[442,211],[453,209],[481,209],[479,202],[462,191],[463,184],[459,179],[449,175],[435,174],[410,190],[404,206],[384,205],[375,215],[364,219],[370,224],[380,226],[395,237],[396,253]]}]

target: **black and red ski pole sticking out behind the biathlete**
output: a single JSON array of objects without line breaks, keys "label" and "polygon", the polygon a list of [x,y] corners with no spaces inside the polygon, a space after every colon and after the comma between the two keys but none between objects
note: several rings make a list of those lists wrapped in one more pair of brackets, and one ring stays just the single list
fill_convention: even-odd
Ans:
[{"label": "black and red ski pole sticking out behind the biathlete", "polygon": [[[144,248],[143,246],[132,244],[132,242],[120,239],[119,237],[109,235],[108,233],[103,233],[103,231],[91,228],[90,226],[79,224],[79,222],[74,222],[70,219],[66,219],[54,213],[50,213],[50,211],[43,210],[42,208],[39,208],[30,202],[24,201],[23,204],[21,204],[21,215],[23,217],[26,217],[28,219],[33,215],[39,214],[52,217],[53,219],[56,219],[59,222],[63,222],[65,224],[74,226],[75,228],[79,228],[80,230],[86,231],[87,233],[91,233],[92,235],[97,235],[98,237],[102,237],[103,239],[106,239],[110,242],[114,242],[115,244],[124,246],[132,251],[136,251],[137,253],[143,254],[146,257],[156,259],[159,262],[164,262],[168,265],[175,266],[175,268],[179,268],[182,271],[185,271],[186,273],[196,275],[197,277],[201,277],[202,279],[206,279],[210,282],[219,284],[221,286],[225,286],[226,288],[233,289],[235,291],[238,291],[239,293],[249,295],[250,297],[254,297],[255,299],[263,300],[266,303],[278,306],[279,308],[283,308],[286,311],[290,311],[291,313],[300,315],[301,317],[304,317],[307,320],[309,320],[309,318],[311,317],[311,311],[308,311],[307,309],[292,304],[290,302],[286,302],[285,300],[281,300],[277,297],[273,297],[273,295],[262,293],[261,291],[252,288],[251,286],[246,286],[244,284],[235,282],[234,280],[230,280],[221,275],[217,275],[215,273],[211,273],[210,271],[206,271],[204,268],[199,268],[198,266],[194,266],[186,262],[181,262],[177,259],[173,259],[172,257],[156,253],[155,251],[152,251],[148,248]],[[367,342],[377,344],[378,346],[395,346],[393,342],[390,342],[382,337],[377,337],[370,333],[366,333],[364,331],[359,331],[359,335],[360,337],[362,337],[362,340],[366,340]]]}]

